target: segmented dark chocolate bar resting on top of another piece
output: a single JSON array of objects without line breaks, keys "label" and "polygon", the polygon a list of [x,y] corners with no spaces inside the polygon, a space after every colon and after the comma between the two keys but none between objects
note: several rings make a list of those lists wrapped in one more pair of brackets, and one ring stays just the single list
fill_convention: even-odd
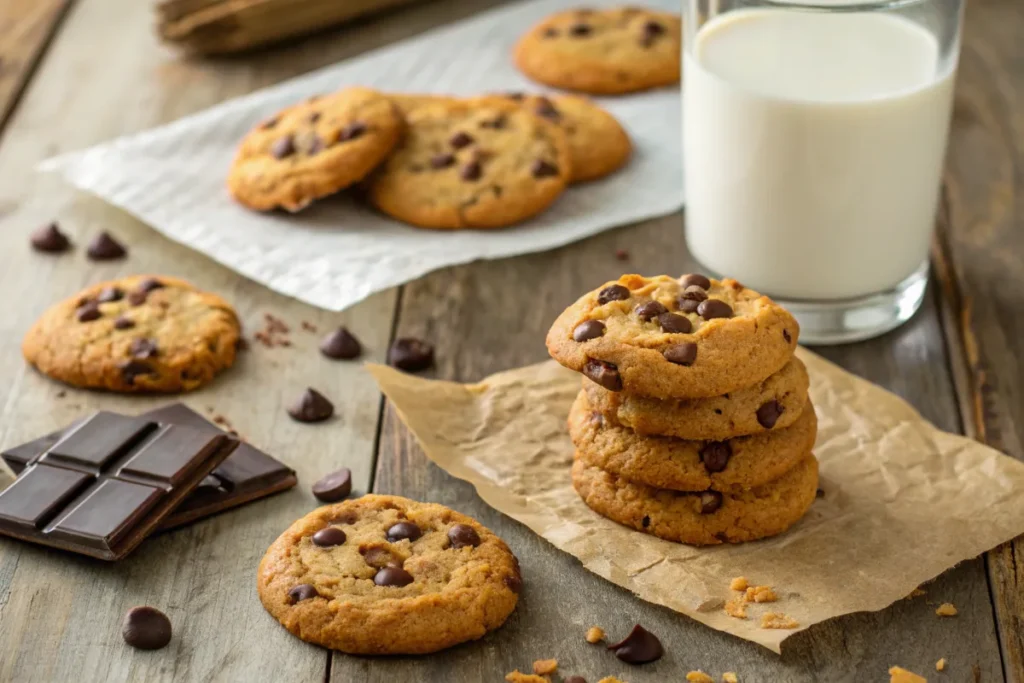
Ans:
[{"label": "segmented dark chocolate bar resting on top of another piece", "polygon": [[121,559],[239,443],[101,411],[69,428],[0,492],[0,533]]}]

